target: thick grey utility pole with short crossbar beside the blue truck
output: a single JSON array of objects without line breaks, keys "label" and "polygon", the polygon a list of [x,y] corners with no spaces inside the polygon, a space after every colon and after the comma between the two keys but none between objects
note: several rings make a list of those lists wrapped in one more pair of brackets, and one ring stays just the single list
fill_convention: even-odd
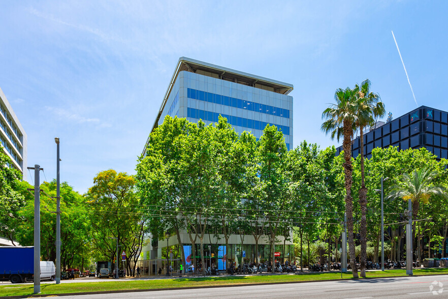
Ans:
[{"label": "thick grey utility pole with short crossbar beside the blue truck", "polygon": [[[44,170],[39,165],[27,167],[34,169],[34,293],[41,292],[41,201],[39,171]],[[33,190],[33,189],[29,189]]]}]

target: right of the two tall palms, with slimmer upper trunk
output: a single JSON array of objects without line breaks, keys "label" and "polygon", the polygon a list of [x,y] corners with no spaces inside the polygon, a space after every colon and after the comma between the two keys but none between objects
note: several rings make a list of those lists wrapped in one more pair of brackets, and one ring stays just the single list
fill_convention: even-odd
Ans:
[{"label": "right of the two tall palms, with slimmer upper trunk", "polygon": [[367,263],[367,188],[364,182],[364,128],[373,126],[377,117],[386,114],[384,104],[380,101],[379,95],[370,92],[370,80],[366,79],[361,85],[355,85],[356,99],[356,126],[360,132],[361,148],[361,189],[359,190],[359,205],[361,208],[360,223],[360,267],[361,277],[366,277]]}]

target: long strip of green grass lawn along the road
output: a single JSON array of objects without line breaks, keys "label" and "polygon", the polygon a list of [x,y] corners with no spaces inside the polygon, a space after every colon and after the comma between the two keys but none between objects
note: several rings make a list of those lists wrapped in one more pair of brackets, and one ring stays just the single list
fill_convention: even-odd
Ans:
[{"label": "long strip of green grass lawn along the road", "polygon": [[[448,268],[433,268],[414,270],[414,275],[448,274]],[[406,276],[406,270],[386,270],[367,272],[368,278],[381,278],[390,276]],[[350,279],[351,274],[343,274],[343,279]],[[275,282],[297,282],[341,279],[340,273],[317,273],[300,275],[257,275],[257,276],[219,276],[219,277],[198,277],[198,278],[173,278],[173,279],[153,279],[135,280],[126,282],[79,282],[61,284],[42,284],[42,294],[78,293],[92,291],[113,291],[113,290],[138,290],[138,289],[160,289],[178,287],[203,287],[220,285],[239,285]],[[17,296],[33,294],[32,284],[7,284],[0,286],[1,296]]]}]

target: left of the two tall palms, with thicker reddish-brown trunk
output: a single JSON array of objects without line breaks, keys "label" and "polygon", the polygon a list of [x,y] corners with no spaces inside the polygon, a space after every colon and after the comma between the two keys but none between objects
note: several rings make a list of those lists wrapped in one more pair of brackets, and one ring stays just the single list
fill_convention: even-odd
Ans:
[{"label": "left of the two tall palms, with thicker reddish-brown trunk", "polygon": [[355,240],[353,238],[353,198],[351,197],[352,172],[351,165],[351,138],[356,130],[356,103],[354,90],[350,88],[338,88],[335,93],[336,104],[324,110],[322,118],[326,121],[321,129],[326,134],[330,133],[331,139],[337,141],[343,136],[342,147],[344,149],[344,180],[345,180],[345,214],[347,215],[348,251],[350,255],[351,272],[354,278],[358,278],[358,269],[355,262]]}]

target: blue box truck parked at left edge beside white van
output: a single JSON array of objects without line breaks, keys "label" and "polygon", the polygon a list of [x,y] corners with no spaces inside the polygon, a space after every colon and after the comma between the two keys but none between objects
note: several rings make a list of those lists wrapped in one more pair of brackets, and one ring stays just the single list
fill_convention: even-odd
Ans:
[{"label": "blue box truck parked at left edge beside white van", "polygon": [[12,283],[33,280],[34,247],[0,246],[0,280]]}]

